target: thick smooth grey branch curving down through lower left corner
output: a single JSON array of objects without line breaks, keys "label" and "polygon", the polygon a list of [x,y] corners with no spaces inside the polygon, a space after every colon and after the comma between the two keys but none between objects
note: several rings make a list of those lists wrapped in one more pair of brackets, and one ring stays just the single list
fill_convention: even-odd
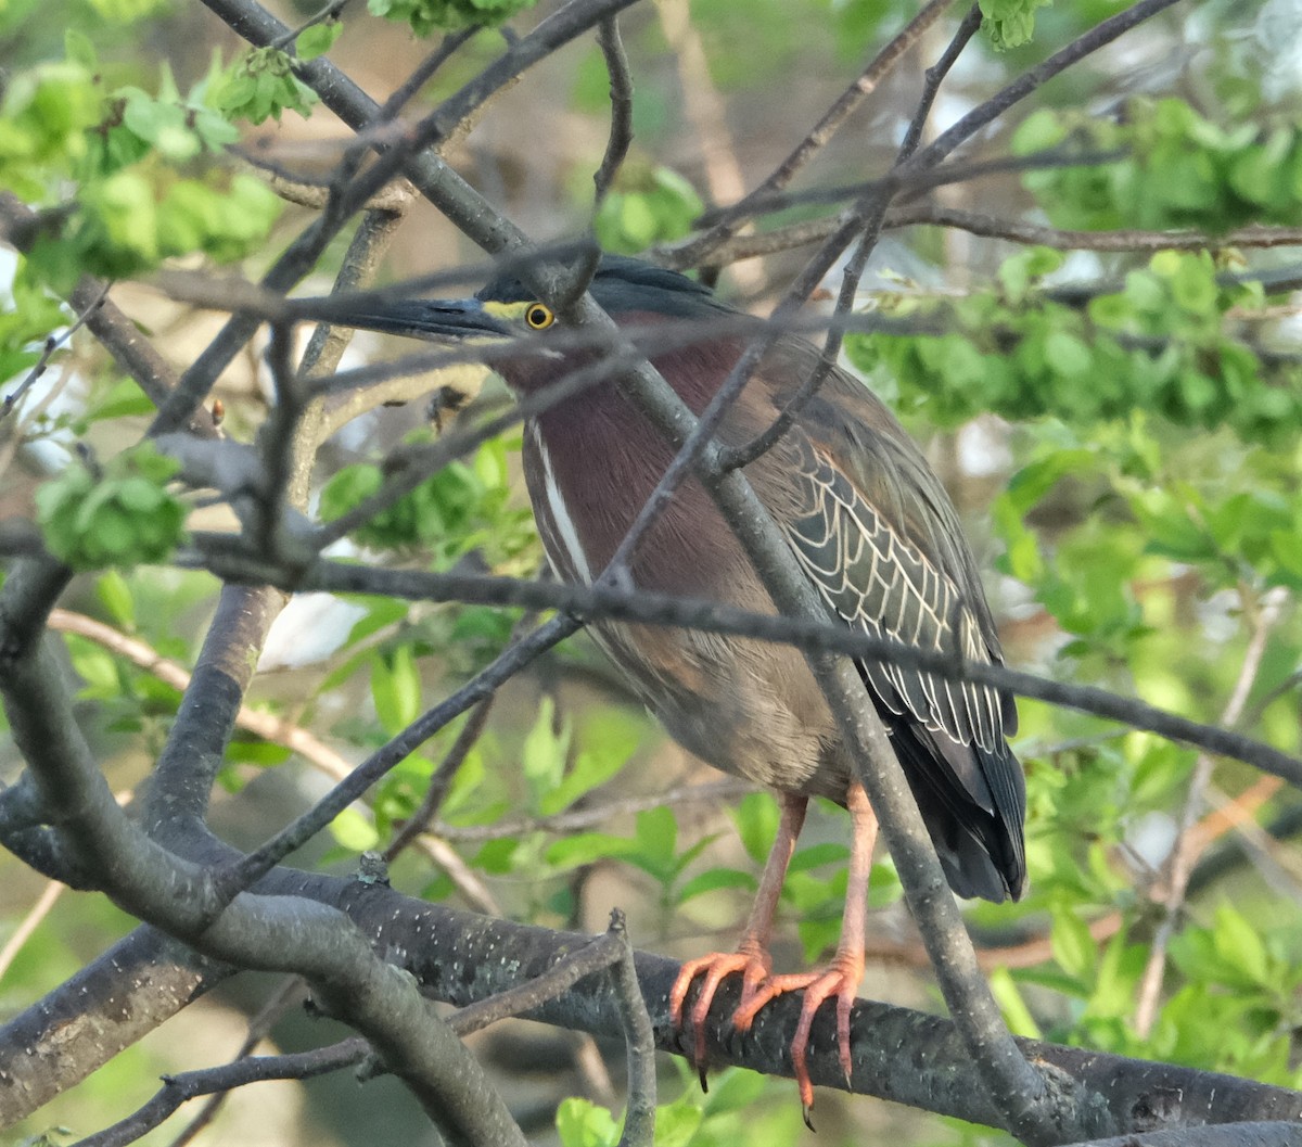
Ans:
[{"label": "thick smooth grey branch curving down through lower left corner", "polygon": [[77,730],[46,647],[0,668],[0,695],[52,816],[118,906],[219,960],[303,974],[333,1014],[371,1040],[454,1143],[523,1147],[519,1129],[466,1048],[415,984],[383,963],[337,910],[250,893],[223,902],[204,870],[128,820]]}]

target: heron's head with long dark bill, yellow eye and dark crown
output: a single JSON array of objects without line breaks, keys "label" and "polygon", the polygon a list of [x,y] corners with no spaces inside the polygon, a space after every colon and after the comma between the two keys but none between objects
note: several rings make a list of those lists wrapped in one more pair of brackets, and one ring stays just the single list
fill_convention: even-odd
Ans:
[{"label": "heron's head with long dark bill, yellow eye and dark crown", "polygon": [[[602,258],[589,292],[621,325],[652,325],[733,312],[695,280],[621,255]],[[362,303],[352,310],[332,311],[332,322],[436,342],[518,348],[518,355],[492,355],[493,366],[518,391],[533,389],[553,378],[557,367],[573,367],[590,357],[590,353],[574,353],[573,342],[566,352],[556,349],[556,335],[562,324],[517,275],[492,280],[473,298]],[[552,346],[548,346],[548,336]]]}]

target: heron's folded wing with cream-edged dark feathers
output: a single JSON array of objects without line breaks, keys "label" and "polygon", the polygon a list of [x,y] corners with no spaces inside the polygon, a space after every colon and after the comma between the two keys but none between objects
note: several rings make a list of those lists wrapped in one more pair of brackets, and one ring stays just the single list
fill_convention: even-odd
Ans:
[{"label": "heron's folded wing with cream-edged dark feathers", "polygon": [[[789,368],[779,376],[793,374],[803,376]],[[862,383],[835,372],[764,470],[766,501],[788,543],[848,625],[956,660],[1000,660],[958,516],[921,450]],[[863,660],[859,672],[950,884],[996,900],[1018,894],[1026,798],[1005,741],[1017,726],[1013,698],[902,664]]]}]

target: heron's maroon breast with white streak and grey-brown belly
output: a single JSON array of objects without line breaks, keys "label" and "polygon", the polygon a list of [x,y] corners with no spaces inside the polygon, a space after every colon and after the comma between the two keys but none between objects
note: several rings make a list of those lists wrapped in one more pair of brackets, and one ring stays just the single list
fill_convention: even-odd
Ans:
[{"label": "heron's maroon breast with white streak and grey-brown belly", "polygon": [[[604,443],[602,444],[604,447]],[[669,456],[549,452],[526,434],[525,477],[548,560],[565,581],[600,577]],[[613,495],[613,496],[612,496]],[[630,564],[638,588],[775,612],[706,491],[686,483]],[[803,655],[789,646],[668,626],[594,622],[594,638],[671,736],[724,772],[771,788],[844,799],[840,737]]]}]

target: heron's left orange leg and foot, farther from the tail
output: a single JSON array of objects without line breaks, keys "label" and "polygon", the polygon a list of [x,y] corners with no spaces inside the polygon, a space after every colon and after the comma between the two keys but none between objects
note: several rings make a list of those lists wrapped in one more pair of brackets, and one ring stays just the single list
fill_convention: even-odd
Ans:
[{"label": "heron's left orange leg and foot, farther from the tail", "polygon": [[[781,801],[781,819],[777,822],[777,837],[768,853],[764,874],[759,879],[759,891],[755,893],[755,905],[750,910],[746,931],[742,932],[737,950],[711,952],[699,960],[689,960],[680,969],[678,978],[673,982],[673,989],[669,992],[669,1019],[674,1030],[681,1030],[682,1005],[687,999],[687,991],[697,976],[704,976],[700,992],[691,1008],[694,1056],[702,1087],[706,1086],[706,1017],[710,1014],[710,1005],[713,1002],[715,992],[719,991],[719,984],[727,975],[738,971],[742,974],[741,1009],[737,1013],[740,1016],[741,1010],[762,991],[760,986],[768,980],[769,971],[772,971],[768,944],[773,935],[773,915],[777,911],[777,898],[781,896],[783,881],[786,879],[786,866],[790,864],[792,854],[796,851],[796,840],[805,824],[805,808],[809,803],[805,797],[793,797],[786,793],[781,794],[779,799]],[[736,1023],[736,1016],[733,1021]],[[737,1026],[745,1031],[745,1027]],[[749,1026],[750,1021],[746,1022],[746,1027]]]}]

